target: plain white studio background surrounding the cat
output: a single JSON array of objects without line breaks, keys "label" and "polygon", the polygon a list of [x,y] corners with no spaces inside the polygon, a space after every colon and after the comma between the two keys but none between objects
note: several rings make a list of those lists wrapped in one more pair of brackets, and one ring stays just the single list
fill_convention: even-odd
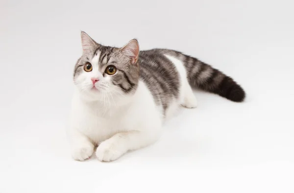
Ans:
[{"label": "plain white studio background surrounding the cat", "polygon": [[[294,192],[292,0],[0,3],[0,193]],[[246,100],[196,91],[198,108],[181,109],[158,143],[73,161],[65,127],[81,30],[193,55]]]}]

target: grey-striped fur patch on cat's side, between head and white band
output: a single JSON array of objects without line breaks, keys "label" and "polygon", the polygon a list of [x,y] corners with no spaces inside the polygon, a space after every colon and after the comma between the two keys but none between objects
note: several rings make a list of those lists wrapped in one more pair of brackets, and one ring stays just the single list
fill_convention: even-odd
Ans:
[{"label": "grey-striped fur patch on cat's side, between head and white band", "polygon": [[157,105],[167,109],[174,98],[178,98],[180,74],[177,66],[167,57],[176,52],[168,49],[140,51],[140,78],[145,82]]}]

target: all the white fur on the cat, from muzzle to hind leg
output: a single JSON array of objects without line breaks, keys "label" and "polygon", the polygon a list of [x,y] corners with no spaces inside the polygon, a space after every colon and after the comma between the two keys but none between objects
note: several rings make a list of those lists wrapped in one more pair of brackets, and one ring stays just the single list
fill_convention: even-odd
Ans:
[{"label": "all the white fur on the cat, from muzzle to hind leg", "polygon": [[[196,98],[188,83],[183,63],[166,55],[180,74],[180,97],[167,109],[166,118],[173,115],[179,105],[196,107]],[[155,105],[146,84],[139,81],[137,91],[125,96],[109,83],[110,77],[98,72],[98,58],[92,60],[93,71],[82,72],[76,80],[68,137],[75,160],[85,160],[94,152],[100,161],[118,159],[128,150],[135,150],[154,143],[161,134],[162,108]],[[93,91],[92,77],[98,77],[96,87],[107,85],[108,94]],[[107,95],[107,96],[106,96]]]}]

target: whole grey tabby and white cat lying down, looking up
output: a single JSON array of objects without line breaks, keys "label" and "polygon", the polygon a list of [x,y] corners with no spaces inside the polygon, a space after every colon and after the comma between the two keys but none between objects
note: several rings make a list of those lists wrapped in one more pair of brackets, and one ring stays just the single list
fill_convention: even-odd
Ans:
[{"label": "whole grey tabby and white cat lying down, looking up", "polygon": [[155,143],[180,106],[197,106],[193,88],[245,99],[231,77],[179,51],[140,51],[136,39],[121,48],[103,46],[83,31],[81,42],[67,130],[74,160],[90,158],[97,145],[96,157],[108,162]]}]

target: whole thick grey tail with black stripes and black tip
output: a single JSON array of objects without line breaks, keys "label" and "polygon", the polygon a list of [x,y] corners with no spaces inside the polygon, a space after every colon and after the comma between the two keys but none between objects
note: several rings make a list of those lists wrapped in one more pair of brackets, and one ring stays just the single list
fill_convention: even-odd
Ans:
[{"label": "whole thick grey tail with black stripes and black tip", "polygon": [[235,102],[242,102],[245,99],[245,91],[231,77],[194,57],[185,56],[184,64],[192,87]]}]

